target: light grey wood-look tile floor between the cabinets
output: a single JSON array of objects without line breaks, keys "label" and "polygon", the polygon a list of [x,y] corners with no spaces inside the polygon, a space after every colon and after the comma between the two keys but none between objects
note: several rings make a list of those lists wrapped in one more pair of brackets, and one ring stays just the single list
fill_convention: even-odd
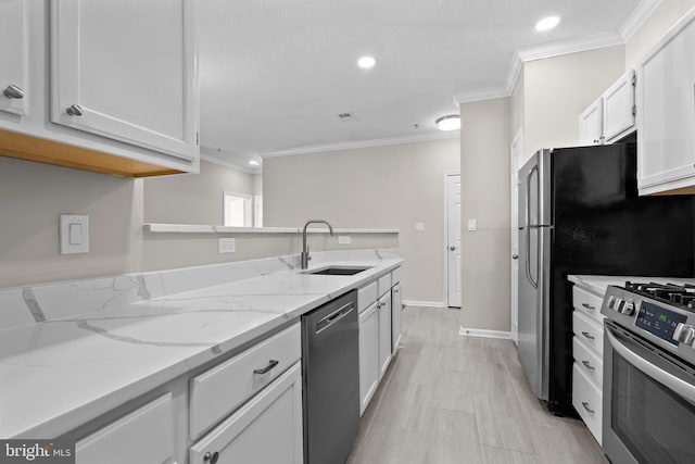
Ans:
[{"label": "light grey wood-look tile floor between the cabinets", "polygon": [[459,336],[459,317],[403,311],[401,349],[348,464],[608,462],[581,421],[543,409],[511,341]]}]

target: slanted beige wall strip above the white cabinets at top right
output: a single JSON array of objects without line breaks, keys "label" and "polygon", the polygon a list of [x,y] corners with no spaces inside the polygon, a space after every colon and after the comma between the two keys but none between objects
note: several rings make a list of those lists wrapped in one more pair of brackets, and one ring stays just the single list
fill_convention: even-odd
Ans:
[{"label": "slanted beige wall strip above the white cabinets at top right", "polygon": [[626,68],[634,66],[642,57],[683,16],[695,8],[695,0],[661,0],[656,10],[626,43]]}]

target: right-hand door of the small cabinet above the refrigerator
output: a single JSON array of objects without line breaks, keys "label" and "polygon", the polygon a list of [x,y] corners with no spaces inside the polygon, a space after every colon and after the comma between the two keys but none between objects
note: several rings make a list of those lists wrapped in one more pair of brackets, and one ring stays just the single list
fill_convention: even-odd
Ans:
[{"label": "right-hand door of the small cabinet above the refrigerator", "polygon": [[634,71],[630,70],[603,95],[606,141],[612,141],[634,127]]}]

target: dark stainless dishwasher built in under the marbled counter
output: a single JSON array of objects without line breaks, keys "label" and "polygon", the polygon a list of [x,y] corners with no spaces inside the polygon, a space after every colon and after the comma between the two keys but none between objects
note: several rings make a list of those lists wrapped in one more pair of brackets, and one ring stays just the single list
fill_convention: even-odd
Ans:
[{"label": "dark stainless dishwasher built in under the marbled counter", "polygon": [[302,316],[304,462],[342,464],[359,429],[357,291]]}]

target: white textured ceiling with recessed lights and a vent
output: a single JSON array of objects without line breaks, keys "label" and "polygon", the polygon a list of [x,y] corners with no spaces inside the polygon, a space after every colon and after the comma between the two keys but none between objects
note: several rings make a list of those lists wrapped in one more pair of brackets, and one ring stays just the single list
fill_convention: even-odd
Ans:
[{"label": "white textured ceiling with recessed lights and a vent", "polygon": [[[428,137],[454,96],[504,88],[516,50],[617,33],[640,0],[205,0],[203,152]],[[563,16],[546,33],[534,24]],[[361,70],[371,54],[377,64]],[[355,121],[341,122],[352,112]],[[416,128],[417,125],[417,128]]]}]

